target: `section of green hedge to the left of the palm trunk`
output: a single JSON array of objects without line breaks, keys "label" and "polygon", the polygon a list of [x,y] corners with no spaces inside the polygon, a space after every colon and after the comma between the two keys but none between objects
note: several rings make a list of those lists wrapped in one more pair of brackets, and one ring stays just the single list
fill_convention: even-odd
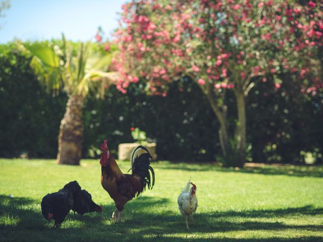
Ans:
[{"label": "section of green hedge to the left of the palm trunk", "polygon": [[0,45],[0,156],[56,157],[66,97],[44,92],[14,44]]}]

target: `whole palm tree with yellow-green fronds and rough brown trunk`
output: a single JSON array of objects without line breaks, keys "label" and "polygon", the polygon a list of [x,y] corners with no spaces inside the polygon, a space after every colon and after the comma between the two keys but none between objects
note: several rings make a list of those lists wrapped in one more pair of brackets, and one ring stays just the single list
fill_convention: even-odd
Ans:
[{"label": "whole palm tree with yellow-green fronds and rough brown trunk", "polygon": [[89,90],[104,89],[118,79],[118,73],[106,72],[115,48],[105,55],[93,50],[90,42],[75,51],[63,35],[62,48],[52,42],[22,44],[31,55],[31,68],[48,90],[64,89],[68,95],[61,121],[57,163],[79,165],[83,140],[82,106]]}]

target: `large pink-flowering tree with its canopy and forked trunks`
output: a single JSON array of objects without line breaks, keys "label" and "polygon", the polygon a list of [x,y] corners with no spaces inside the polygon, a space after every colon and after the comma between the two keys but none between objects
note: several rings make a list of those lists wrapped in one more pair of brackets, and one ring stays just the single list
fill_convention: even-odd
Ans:
[{"label": "large pink-flowering tree with its canopy and forked trunks", "polygon": [[[304,1],[306,2],[306,1]],[[190,77],[207,96],[221,124],[227,165],[245,162],[245,97],[257,81],[292,73],[316,90],[322,64],[323,4],[283,0],[142,0],[123,6],[116,32],[116,66],[123,93],[139,78],[146,90],[167,95],[167,84]],[[303,87],[303,88],[304,88]],[[226,93],[236,96],[236,131],[230,134]]]}]

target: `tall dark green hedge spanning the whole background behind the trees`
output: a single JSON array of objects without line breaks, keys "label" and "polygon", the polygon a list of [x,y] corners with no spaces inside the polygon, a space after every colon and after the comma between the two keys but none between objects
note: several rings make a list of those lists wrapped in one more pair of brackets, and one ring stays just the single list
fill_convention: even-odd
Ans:
[{"label": "tall dark green hedge spanning the whole background behind the trees", "polygon": [[[267,79],[258,83],[247,100],[249,160],[302,162],[302,151],[320,156],[322,93],[301,94],[292,81],[275,89],[271,78]],[[208,101],[189,79],[182,80],[183,91],[178,85],[171,85],[167,97],[147,96],[137,85],[131,85],[127,95],[112,87],[103,100],[89,97],[83,109],[83,157],[97,158],[97,147],[105,138],[114,153],[119,143],[133,142],[131,127],[139,127],[157,142],[159,159],[213,161],[221,155],[219,123]],[[14,44],[0,45],[1,157],[27,153],[55,158],[66,101],[64,93],[53,96],[43,90],[29,59]],[[228,105],[228,122],[234,124],[233,95]]]}]

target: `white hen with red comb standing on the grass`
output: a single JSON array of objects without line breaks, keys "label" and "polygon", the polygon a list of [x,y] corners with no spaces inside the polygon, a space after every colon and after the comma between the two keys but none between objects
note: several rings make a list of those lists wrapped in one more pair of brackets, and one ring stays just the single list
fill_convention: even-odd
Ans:
[{"label": "white hen with red comb standing on the grass", "polygon": [[[190,189],[190,185],[193,186],[191,187],[191,189]],[[197,209],[196,186],[195,184],[191,183],[191,179],[189,179],[186,185],[186,188],[182,191],[180,196],[178,196],[177,203],[178,203],[178,208],[180,209],[182,215],[185,218],[186,227],[189,229],[188,223],[187,223],[187,216],[191,215],[190,222],[194,223],[193,213]]]}]

